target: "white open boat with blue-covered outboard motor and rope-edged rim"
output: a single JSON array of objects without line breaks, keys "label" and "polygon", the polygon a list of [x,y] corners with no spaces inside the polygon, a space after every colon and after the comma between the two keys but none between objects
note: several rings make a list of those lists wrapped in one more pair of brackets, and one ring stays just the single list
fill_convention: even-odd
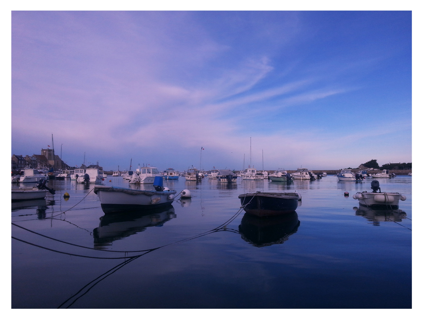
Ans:
[{"label": "white open boat with blue-covered outboard motor and rope-edged rim", "polygon": [[164,190],[161,176],[154,177],[155,190],[128,189],[114,186],[95,185],[104,213],[122,210],[144,210],[171,205],[176,191]]}]

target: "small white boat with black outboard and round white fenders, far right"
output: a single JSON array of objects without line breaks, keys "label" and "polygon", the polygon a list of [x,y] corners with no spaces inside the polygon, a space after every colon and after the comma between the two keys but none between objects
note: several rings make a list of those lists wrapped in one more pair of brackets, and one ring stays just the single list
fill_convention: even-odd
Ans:
[{"label": "small white boat with black outboard and round white fenders, far right", "polygon": [[[370,209],[398,209],[400,200],[406,200],[406,196],[399,193],[381,193],[379,181],[371,182],[372,192],[362,191],[353,195],[353,199],[359,200],[359,205]],[[379,190],[379,192],[377,192]]]}]

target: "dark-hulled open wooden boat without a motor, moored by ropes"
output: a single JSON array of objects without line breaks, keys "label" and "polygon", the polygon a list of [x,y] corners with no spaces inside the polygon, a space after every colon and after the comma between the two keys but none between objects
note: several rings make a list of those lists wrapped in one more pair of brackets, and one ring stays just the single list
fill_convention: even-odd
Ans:
[{"label": "dark-hulled open wooden boat without a motor, moored by ropes", "polygon": [[292,213],[298,208],[298,193],[263,193],[239,195],[243,210],[254,216],[277,216]]}]

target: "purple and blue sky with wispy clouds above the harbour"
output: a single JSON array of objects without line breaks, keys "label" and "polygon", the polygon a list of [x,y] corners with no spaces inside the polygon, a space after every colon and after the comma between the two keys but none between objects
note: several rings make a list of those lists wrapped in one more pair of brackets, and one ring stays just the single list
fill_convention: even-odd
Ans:
[{"label": "purple and blue sky with wispy clouds above the harbour", "polygon": [[411,162],[411,17],[12,11],[11,154],[53,134],[105,170]]}]

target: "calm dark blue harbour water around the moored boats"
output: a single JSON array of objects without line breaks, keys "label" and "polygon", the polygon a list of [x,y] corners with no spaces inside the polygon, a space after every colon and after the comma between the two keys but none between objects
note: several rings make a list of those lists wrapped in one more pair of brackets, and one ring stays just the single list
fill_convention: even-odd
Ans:
[{"label": "calm dark blue harbour water around the moored boats", "polygon": [[[104,216],[93,184],[50,180],[54,197],[12,203],[12,223],[78,246],[12,225],[12,236],[37,245],[12,239],[12,308],[411,308],[411,176],[377,180],[406,195],[399,213],[358,208],[352,194],[371,191],[371,179],[332,175],[291,185],[165,180],[192,199],[120,216]],[[140,188],[121,177],[103,183]],[[239,194],[255,191],[297,191],[302,203],[271,220],[242,210],[208,232],[238,212]]]}]

